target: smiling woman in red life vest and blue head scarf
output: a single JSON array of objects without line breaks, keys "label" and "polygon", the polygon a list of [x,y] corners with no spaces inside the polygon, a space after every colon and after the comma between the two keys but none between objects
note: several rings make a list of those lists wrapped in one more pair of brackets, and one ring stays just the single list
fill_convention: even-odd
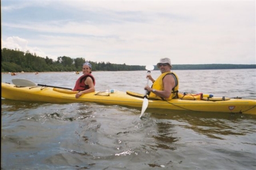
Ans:
[{"label": "smiling woman in red life vest and blue head scarf", "polygon": [[80,78],[76,80],[75,87],[73,88],[73,91],[79,91],[76,94],[76,99],[78,99],[82,94],[88,94],[95,91],[95,79],[91,74],[91,70],[92,65],[90,65],[89,62],[85,62],[84,65],[82,65],[82,74],[84,75],[80,76]]}]

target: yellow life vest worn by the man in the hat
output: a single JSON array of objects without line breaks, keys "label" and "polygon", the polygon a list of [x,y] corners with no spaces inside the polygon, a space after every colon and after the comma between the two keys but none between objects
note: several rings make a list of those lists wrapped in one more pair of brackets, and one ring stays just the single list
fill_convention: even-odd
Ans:
[{"label": "yellow life vest worn by the man in the hat", "polygon": [[173,72],[166,72],[166,73],[162,73],[156,80],[155,82],[152,84],[152,87],[151,88],[154,88],[155,90],[160,90],[160,91],[163,91],[164,90],[164,87],[163,87],[163,78],[164,76],[166,76],[167,74],[173,74],[176,79],[177,79],[177,85],[172,88],[172,92],[171,92],[171,95],[170,97],[166,98],[166,99],[163,99],[163,97],[159,97],[158,95],[154,94],[153,92],[150,92],[150,94],[148,95],[149,98],[155,98],[155,99],[162,99],[162,100],[171,100],[171,99],[174,99],[174,98],[177,98],[177,92],[179,92],[179,79],[177,77],[177,75]]}]

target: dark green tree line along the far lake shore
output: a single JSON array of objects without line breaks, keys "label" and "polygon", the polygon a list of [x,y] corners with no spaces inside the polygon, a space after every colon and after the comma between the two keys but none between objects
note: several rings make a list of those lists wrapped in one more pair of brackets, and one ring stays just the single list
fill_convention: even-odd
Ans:
[{"label": "dark green tree line along the far lake shore", "polygon": [[[1,72],[45,72],[45,71],[81,71],[85,58],[71,58],[67,56],[53,59],[37,56],[29,51],[21,52],[19,49],[1,49]],[[110,62],[88,61],[93,71],[135,71],[145,70],[145,66],[115,64]],[[256,65],[232,64],[203,64],[203,65],[172,65],[172,70],[209,70],[209,69],[256,69]],[[154,70],[159,70],[155,65]]]}]

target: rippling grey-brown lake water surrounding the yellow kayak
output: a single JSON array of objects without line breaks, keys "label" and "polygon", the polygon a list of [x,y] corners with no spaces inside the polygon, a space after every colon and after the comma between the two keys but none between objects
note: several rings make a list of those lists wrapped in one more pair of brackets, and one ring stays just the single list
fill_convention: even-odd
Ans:
[{"label": "rippling grey-brown lake water surrounding the yellow kayak", "polygon": [[[256,98],[256,70],[177,70],[180,91]],[[147,71],[98,71],[96,90],[144,94]],[[151,71],[156,78],[160,72]],[[2,74],[73,88],[81,74]],[[1,169],[255,169],[256,116],[2,99]]]}]

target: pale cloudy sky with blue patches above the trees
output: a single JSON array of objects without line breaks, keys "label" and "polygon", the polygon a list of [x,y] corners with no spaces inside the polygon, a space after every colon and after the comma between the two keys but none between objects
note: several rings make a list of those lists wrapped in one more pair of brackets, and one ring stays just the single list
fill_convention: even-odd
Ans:
[{"label": "pale cloudy sky with blue patches above the trees", "polygon": [[255,1],[1,1],[1,48],[126,65],[256,64]]}]

